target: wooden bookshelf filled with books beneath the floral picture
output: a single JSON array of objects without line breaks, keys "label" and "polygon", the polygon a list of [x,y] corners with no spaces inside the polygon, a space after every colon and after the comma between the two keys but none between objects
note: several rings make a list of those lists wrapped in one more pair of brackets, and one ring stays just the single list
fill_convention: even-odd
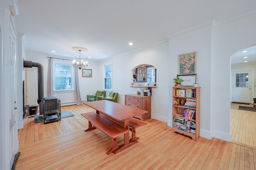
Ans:
[{"label": "wooden bookshelf filled with books beneath the floral picture", "polygon": [[193,140],[200,136],[200,88],[172,87],[172,132]]}]

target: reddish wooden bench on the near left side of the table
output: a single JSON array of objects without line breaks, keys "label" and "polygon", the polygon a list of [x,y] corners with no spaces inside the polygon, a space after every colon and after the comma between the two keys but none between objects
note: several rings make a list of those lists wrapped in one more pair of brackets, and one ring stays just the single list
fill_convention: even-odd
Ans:
[{"label": "reddish wooden bench on the near left side of the table", "polygon": [[84,131],[97,128],[112,139],[112,148],[107,152],[107,154],[111,154],[115,149],[118,148],[116,139],[118,136],[129,133],[128,129],[108,120],[107,118],[95,112],[82,113],[81,115],[89,121],[88,128],[84,129]]}]

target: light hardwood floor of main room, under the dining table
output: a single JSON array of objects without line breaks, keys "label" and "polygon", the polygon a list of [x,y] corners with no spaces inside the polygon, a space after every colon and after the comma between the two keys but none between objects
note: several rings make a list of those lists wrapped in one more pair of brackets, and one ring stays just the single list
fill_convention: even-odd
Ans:
[{"label": "light hardwood floor of main room, under the dining table", "polygon": [[[252,169],[256,150],[213,138],[197,141],[172,133],[167,123],[154,119],[136,129],[138,143],[118,154],[107,155],[112,141],[98,129],[84,132],[88,121],[80,113],[94,111],[88,106],[63,106],[73,117],[53,123],[34,123],[27,118],[18,131],[16,170],[28,169]],[[236,113],[235,113],[236,114]],[[130,133],[131,136],[131,133]],[[119,145],[123,137],[118,138]]]}]

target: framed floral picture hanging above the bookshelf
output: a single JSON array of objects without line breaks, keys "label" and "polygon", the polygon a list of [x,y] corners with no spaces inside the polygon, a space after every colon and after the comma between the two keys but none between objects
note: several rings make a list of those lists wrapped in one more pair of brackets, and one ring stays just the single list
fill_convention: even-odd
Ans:
[{"label": "framed floral picture hanging above the bookshelf", "polygon": [[179,54],[178,74],[196,74],[196,51]]}]

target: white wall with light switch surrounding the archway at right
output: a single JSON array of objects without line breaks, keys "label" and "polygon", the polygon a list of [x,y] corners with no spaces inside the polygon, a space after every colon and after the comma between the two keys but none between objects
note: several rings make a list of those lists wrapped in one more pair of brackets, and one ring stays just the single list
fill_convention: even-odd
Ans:
[{"label": "white wall with light switch surrounding the archway at right", "polygon": [[[212,47],[212,137],[231,141],[230,133],[230,57],[239,50],[255,45],[256,15],[214,27]],[[225,92],[215,92],[216,87]],[[201,120],[202,121],[202,120]]]}]

